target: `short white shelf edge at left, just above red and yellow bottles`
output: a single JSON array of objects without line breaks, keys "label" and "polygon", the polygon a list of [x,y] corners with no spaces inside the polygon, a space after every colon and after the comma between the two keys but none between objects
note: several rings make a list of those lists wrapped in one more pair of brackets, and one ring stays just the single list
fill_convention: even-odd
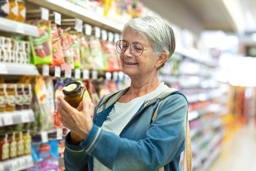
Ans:
[{"label": "short white shelf edge at left, just above red and yellow bottles", "polygon": [[14,125],[34,121],[33,110],[20,110],[15,112],[5,112],[0,115],[0,126]]}]

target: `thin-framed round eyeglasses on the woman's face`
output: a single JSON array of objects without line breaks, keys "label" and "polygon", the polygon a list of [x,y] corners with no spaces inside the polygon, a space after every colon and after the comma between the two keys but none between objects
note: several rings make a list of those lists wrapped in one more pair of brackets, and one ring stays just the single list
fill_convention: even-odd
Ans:
[{"label": "thin-framed round eyeglasses on the woman's face", "polygon": [[[134,56],[141,56],[143,53],[144,47],[140,42],[132,42],[131,47],[129,48],[130,53]],[[129,47],[129,42],[126,40],[118,40],[116,42],[116,51],[120,54],[123,54],[125,50]]]}]

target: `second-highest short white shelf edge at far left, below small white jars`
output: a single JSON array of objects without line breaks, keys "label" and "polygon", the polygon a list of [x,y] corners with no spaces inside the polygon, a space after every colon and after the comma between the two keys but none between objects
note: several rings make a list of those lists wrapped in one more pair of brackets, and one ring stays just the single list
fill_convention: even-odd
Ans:
[{"label": "second-highest short white shelf edge at far left, below small white jars", "polygon": [[0,75],[39,75],[32,64],[0,63]]}]

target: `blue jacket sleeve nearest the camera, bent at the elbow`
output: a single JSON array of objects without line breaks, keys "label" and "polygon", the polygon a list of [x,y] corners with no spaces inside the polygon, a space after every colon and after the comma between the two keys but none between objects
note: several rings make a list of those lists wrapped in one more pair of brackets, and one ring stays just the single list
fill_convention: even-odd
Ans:
[{"label": "blue jacket sleeve nearest the camera, bent at the elbow", "polygon": [[[179,159],[184,151],[187,108],[183,96],[168,96],[160,104],[157,118],[143,139],[129,140],[111,132],[97,131],[91,136],[92,140],[80,143],[80,149],[85,149],[81,153],[97,157],[111,170],[157,170]],[[139,131],[134,130],[132,134]]]}]

